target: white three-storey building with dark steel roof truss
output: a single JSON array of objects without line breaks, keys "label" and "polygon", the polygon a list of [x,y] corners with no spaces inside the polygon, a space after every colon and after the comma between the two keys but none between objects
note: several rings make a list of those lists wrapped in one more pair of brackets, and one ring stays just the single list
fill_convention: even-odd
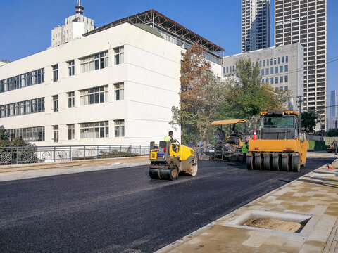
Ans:
[{"label": "white three-storey building with dark steel roof truss", "polygon": [[[161,13],[137,17],[155,14],[161,18],[151,22],[156,27],[165,18]],[[221,56],[211,51],[222,48],[176,22],[184,35],[170,41],[132,17],[1,65],[0,125],[11,138],[36,145],[129,145],[160,141],[173,130],[180,140],[180,126],[168,124],[180,102],[184,48],[178,42],[205,43],[219,74]]]}]

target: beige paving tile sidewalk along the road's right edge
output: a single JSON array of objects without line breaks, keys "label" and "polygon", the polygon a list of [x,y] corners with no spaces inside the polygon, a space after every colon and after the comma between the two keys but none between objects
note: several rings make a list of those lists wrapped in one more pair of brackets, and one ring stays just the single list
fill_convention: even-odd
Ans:
[{"label": "beige paving tile sidewalk along the road's right edge", "polygon": [[[311,155],[311,154],[310,154]],[[315,157],[315,154],[312,154]],[[325,155],[325,154],[324,154]],[[328,156],[328,155],[326,155]],[[260,210],[311,216],[301,233],[249,228],[234,224],[248,212]],[[338,161],[323,166],[254,200],[181,240],[162,252],[338,252]]]}]

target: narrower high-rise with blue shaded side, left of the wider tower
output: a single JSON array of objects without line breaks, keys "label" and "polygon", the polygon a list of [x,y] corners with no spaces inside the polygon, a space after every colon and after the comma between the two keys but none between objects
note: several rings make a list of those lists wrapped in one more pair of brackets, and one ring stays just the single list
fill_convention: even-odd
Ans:
[{"label": "narrower high-rise with blue shaded side, left of the wider tower", "polygon": [[242,53],[270,47],[270,0],[242,0]]}]

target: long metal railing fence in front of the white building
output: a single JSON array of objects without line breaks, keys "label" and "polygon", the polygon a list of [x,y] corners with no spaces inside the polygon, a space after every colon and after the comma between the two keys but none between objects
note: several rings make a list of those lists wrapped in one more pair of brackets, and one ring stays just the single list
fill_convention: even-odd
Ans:
[{"label": "long metal railing fence in front of the white building", "polygon": [[0,147],[0,165],[149,155],[149,145]]}]

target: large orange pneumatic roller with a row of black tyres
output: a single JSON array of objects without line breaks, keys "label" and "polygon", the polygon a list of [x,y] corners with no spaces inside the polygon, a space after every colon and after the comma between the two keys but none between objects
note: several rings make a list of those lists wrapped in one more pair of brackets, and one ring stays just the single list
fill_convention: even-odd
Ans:
[{"label": "large orange pneumatic roller with a row of black tyres", "polygon": [[308,141],[294,111],[261,112],[258,138],[249,140],[247,169],[299,172],[306,164]]}]

